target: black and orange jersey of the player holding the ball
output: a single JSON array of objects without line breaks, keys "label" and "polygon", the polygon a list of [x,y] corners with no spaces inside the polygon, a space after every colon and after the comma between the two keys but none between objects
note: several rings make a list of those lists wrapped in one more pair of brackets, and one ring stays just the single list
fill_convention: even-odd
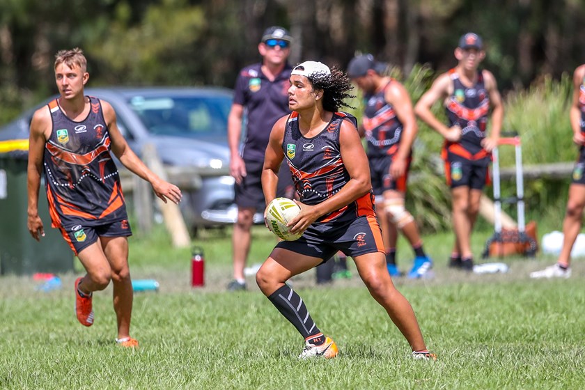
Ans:
[{"label": "black and orange jersey of the player holding the ball", "polygon": [[[354,116],[336,112],[318,135],[305,138],[299,130],[297,112],[293,111],[288,117],[282,148],[300,200],[307,205],[316,205],[334,196],[350,180],[339,148],[343,120],[356,125]],[[317,222],[349,221],[361,215],[375,215],[371,192],[322,216]]]}]

